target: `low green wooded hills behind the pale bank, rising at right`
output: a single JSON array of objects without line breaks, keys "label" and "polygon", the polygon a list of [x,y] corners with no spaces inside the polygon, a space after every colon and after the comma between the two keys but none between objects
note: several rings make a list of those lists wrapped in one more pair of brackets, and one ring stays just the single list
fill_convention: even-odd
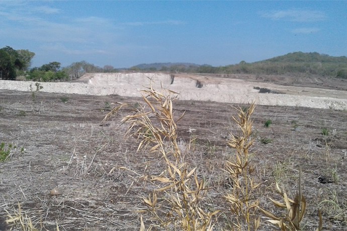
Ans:
[{"label": "low green wooded hills behind the pale bank, rising at right", "polygon": [[140,64],[132,70],[170,71],[187,73],[216,73],[216,74],[267,74],[282,75],[287,73],[306,73],[326,77],[347,79],[347,57],[333,57],[317,52],[294,52],[271,59],[247,63],[214,67],[189,63],[153,63]]}]

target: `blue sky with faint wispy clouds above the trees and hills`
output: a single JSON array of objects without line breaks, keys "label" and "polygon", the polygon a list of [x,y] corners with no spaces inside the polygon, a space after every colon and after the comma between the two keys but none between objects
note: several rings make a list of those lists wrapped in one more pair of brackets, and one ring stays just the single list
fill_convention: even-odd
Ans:
[{"label": "blue sky with faint wispy clouds above the trees and hills", "polygon": [[1,1],[0,47],[32,66],[189,62],[224,66],[290,52],[347,56],[347,1]]}]

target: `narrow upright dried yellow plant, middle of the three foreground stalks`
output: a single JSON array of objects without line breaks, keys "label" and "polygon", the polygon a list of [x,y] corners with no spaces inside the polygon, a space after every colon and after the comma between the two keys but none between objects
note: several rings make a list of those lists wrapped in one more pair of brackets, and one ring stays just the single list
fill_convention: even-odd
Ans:
[{"label": "narrow upright dried yellow plant, middle of the three foreground stalks", "polygon": [[[225,163],[225,169],[232,182],[232,191],[227,193],[224,198],[230,204],[230,209],[235,218],[232,223],[237,230],[256,230],[260,225],[260,218],[255,215],[259,199],[254,198],[253,192],[260,185],[254,182],[252,173],[254,167],[250,164],[249,148],[253,144],[251,138],[252,125],[251,115],[255,104],[243,109],[234,107],[237,118],[233,117],[240,132],[237,136],[229,134],[228,146],[236,150],[235,155]],[[246,224],[246,227],[244,227]]]}]

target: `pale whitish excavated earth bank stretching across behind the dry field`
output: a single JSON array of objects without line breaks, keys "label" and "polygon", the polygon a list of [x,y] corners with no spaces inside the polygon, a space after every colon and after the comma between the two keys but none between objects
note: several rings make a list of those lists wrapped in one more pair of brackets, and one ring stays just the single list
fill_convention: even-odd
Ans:
[{"label": "pale whitish excavated earth bank stretching across behind the dry field", "polygon": [[[151,80],[150,80],[151,79]],[[149,86],[179,93],[180,99],[210,100],[217,102],[247,103],[255,100],[263,105],[304,106],[314,108],[347,109],[347,92],[340,90],[281,86],[271,83],[250,82],[199,75],[175,74],[171,84],[168,74],[160,73],[94,73],[83,76],[77,83],[40,83],[41,91],[88,95],[118,94],[140,96],[140,90]],[[202,84],[197,87],[197,81]],[[30,81],[0,80],[0,89],[29,91]],[[266,87],[286,94],[258,93],[254,86]]]}]

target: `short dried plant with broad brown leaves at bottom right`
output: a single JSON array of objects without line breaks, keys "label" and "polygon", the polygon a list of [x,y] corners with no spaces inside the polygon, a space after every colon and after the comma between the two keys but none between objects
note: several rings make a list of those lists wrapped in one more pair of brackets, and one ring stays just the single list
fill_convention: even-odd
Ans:
[{"label": "short dried plant with broad brown leaves at bottom right", "polygon": [[[276,191],[283,198],[283,202],[269,198],[275,206],[285,209],[286,211],[282,216],[275,215],[273,212],[265,210],[263,208],[259,209],[270,218],[267,220],[272,224],[275,224],[281,230],[301,230],[300,222],[304,217],[306,210],[306,199],[301,192],[301,169],[299,172],[299,189],[295,194],[295,197],[291,199],[284,190],[281,190],[278,183],[276,183]],[[322,230],[322,218],[319,211],[319,226],[317,230]]]}]

